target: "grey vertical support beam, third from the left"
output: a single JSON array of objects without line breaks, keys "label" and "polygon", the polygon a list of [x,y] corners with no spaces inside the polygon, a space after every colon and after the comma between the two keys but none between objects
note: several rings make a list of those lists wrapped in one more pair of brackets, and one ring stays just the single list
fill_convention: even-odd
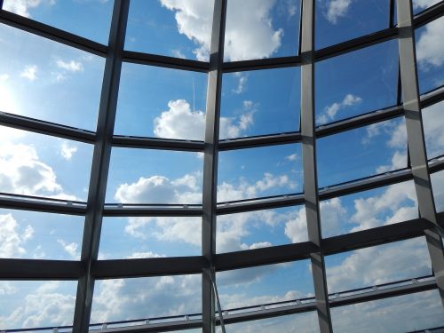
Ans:
[{"label": "grey vertical support beam, third from the left", "polygon": [[304,167],[304,197],[308,239],[317,246],[310,254],[314,296],[321,333],[331,333],[329,292],[321,248],[318,179],[316,171],[316,138],[314,131],[314,0],[303,0],[301,44],[301,134]]}]

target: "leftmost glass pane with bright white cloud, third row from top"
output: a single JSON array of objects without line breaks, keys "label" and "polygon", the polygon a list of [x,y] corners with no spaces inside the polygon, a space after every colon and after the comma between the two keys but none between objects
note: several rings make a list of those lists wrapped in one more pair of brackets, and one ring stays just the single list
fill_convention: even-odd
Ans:
[{"label": "leftmost glass pane with bright white cloud, third row from top", "polygon": [[85,201],[92,146],[0,126],[0,192]]}]

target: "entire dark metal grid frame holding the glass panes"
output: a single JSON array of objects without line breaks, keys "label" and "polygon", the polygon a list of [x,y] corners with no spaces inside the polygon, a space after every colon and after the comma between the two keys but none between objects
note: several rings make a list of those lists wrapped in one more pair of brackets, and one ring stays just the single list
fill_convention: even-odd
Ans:
[{"label": "entire dark metal grid frame holding the glass panes", "polygon": [[[286,309],[276,308],[243,314],[224,314],[226,323],[257,320],[289,313],[317,310],[321,332],[331,332],[329,308],[349,305],[384,297],[405,295],[425,290],[440,290],[444,303],[444,256],[441,236],[444,213],[436,214],[433,203],[430,174],[444,170],[444,158],[426,160],[421,107],[428,107],[444,100],[444,86],[419,96],[417,89],[414,28],[444,16],[444,1],[412,15],[411,1],[397,0],[398,20],[395,26],[394,1],[389,2],[389,25],[384,30],[369,36],[360,36],[341,44],[321,50],[313,50],[313,0],[301,0],[302,15],[299,31],[299,55],[245,61],[223,62],[226,0],[215,0],[211,34],[210,62],[190,59],[175,59],[155,54],[123,50],[126,20],[130,0],[116,0],[111,22],[108,45],[98,44],[81,36],[35,20],[20,17],[0,10],[0,23],[67,44],[77,49],[106,58],[106,67],[99,106],[97,131],[84,131],[58,123],[45,122],[30,117],[0,113],[0,124],[25,131],[54,137],[73,139],[94,145],[91,182],[88,202],[69,202],[26,195],[0,194],[0,207],[17,210],[46,211],[85,216],[81,261],[0,259],[0,280],[73,280],[78,282],[75,304],[75,332],[86,332],[93,326],[89,319],[94,281],[98,279],[131,278],[170,274],[202,274],[202,319],[151,323],[139,328],[127,327],[104,329],[109,332],[166,331],[202,327],[204,332],[214,332],[219,319],[215,313],[215,273],[243,267],[271,265],[310,258],[313,265],[313,281],[316,301],[307,305],[291,305]],[[0,8],[3,3],[0,0]],[[403,104],[375,110],[365,115],[315,127],[313,122],[313,68],[316,62],[353,52],[373,44],[397,39],[400,46],[400,89],[405,97]],[[209,74],[207,117],[204,141],[141,138],[113,135],[115,108],[123,62],[157,67],[170,67]],[[220,113],[221,77],[224,73],[259,70],[278,67],[301,67],[301,131],[274,133],[251,138],[218,140]],[[367,126],[405,116],[408,129],[408,152],[411,165],[383,175],[355,179],[343,184],[318,188],[316,177],[316,139],[343,131]],[[265,147],[300,143],[303,151],[305,192],[284,194],[252,200],[217,202],[218,151]],[[107,204],[105,190],[107,170],[112,147],[142,149],[170,149],[204,153],[204,178],[202,205],[153,205],[153,204]],[[357,193],[379,186],[414,180],[421,218],[380,226],[353,234],[321,237],[319,201],[337,196]],[[242,211],[264,210],[294,206],[305,203],[309,241],[271,248],[217,254],[215,252],[216,217]],[[146,258],[128,260],[97,260],[101,220],[104,216],[195,216],[202,217],[202,256],[183,258]],[[431,254],[434,277],[430,281],[379,289],[352,297],[332,297],[326,287],[323,257],[369,246],[396,242],[425,236]],[[39,269],[37,270],[36,267]]]}]

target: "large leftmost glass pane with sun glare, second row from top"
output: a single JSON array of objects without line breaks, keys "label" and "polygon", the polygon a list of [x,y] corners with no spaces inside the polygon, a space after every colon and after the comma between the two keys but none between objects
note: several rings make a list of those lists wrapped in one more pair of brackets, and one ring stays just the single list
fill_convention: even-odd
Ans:
[{"label": "large leftmost glass pane with sun glare, second row from top", "polygon": [[3,24],[0,36],[0,111],[96,130],[103,58]]}]

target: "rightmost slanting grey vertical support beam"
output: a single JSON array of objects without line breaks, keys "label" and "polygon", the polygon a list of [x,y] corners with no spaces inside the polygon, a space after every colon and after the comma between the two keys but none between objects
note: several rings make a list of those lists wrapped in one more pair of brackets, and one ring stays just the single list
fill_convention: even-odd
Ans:
[{"label": "rightmost slanting grey vertical support beam", "polygon": [[415,31],[413,28],[413,11],[411,0],[397,0],[400,81],[402,86],[403,107],[406,115],[408,137],[408,154],[415,182],[418,208],[422,218],[432,222],[436,227],[424,231],[427,248],[432,261],[436,284],[440,290],[441,302],[444,305],[444,251],[440,226],[436,216],[433,200],[432,182],[425,151],[424,127],[419,103],[419,89],[416,69]]}]

